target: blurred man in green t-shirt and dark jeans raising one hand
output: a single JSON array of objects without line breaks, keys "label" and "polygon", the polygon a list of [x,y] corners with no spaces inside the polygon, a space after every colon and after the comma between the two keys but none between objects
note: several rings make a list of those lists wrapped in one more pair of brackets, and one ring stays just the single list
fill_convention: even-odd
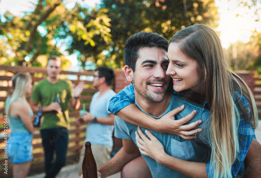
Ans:
[{"label": "blurred man in green t-shirt and dark jeans raising one hand", "polygon": [[[84,89],[84,82],[80,82],[73,88],[71,81],[59,79],[62,70],[59,57],[50,57],[46,70],[47,78],[34,86],[31,107],[34,112],[37,112],[39,102],[44,106],[44,122],[40,127],[40,132],[45,152],[45,177],[52,178],[58,174],[66,162],[68,128],[70,127],[68,101],[71,108],[75,110],[79,108],[79,97]],[[55,102],[56,97],[58,101],[60,100],[60,104]],[[54,151],[56,152],[55,162],[53,162]]]}]

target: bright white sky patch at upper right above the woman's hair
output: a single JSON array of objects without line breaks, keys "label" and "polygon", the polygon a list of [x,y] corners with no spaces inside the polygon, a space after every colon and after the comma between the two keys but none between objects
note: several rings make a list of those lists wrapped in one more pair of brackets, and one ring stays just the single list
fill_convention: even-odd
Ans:
[{"label": "bright white sky patch at upper right above the woman's hair", "polygon": [[[220,39],[224,48],[228,48],[231,43],[236,41],[248,42],[251,31],[255,28],[258,32],[261,32],[261,21],[256,22],[258,18],[254,15],[254,8],[261,9],[261,3],[258,2],[256,7],[248,9],[248,7],[238,7],[238,3],[241,0],[226,0],[216,1],[218,12],[220,13],[219,27],[216,31],[221,31]],[[251,1],[245,1],[251,4]],[[238,17],[236,15],[239,14]],[[259,17],[261,17],[261,10],[258,11]],[[260,19],[261,20],[261,19]]]}]

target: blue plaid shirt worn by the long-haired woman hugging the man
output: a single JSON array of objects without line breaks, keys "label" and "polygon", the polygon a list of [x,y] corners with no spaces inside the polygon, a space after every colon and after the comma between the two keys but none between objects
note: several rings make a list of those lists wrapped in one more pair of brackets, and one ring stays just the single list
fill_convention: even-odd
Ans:
[{"label": "blue plaid shirt worn by the long-haired woman hugging the man", "polygon": [[[176,96],[180,96],[183,102],[188,98],[190,93],[187,93],[187,95],[183,96],[179,92],[172,91]],[[241,104],[244,106],[246,111],[248,111],[248,115],[251,114],[250,111],[250,103],[246,99],[245,96],[243,96],[239,92],[235,92],[237,97],[240,99]],[[235,97],[233,97],[234,102],[235,102]],[[133,85],[129,85],[128,87],[125,87],[123,90],[121,90],[117,95],[113,96],[112,99],[110,100],[110,105],[109,105],[109,111],[112,113],[116,113],[120,111],[122,108],[132,104],[135,102],[135,95],[134,95],[134,88]],[[192,105],[196,104],[190,100],[187,100],[188,103],[191,103]],[[181,106],[177,105],[175,107]],[[196,104],[197,105],[197,104]],[[253,138],[256,138],[254,134],[254,128],[246,121],[245,116],[242,114],[239,104],[235,102],[235,105],[240,113],[240,120],[239,126],[238,126],[238,140],[239,140],[239,153],[238,156],[235,158],[235,161],[233,165],[231,166],[231,173],[233,177],[236,177],[237,174],[240,174],[242,177],[245,177],[244,172],[244,159],[246,157],[248,148],[253,140]],[[186,105],[185,105],[186,106]],[[174,107],[174,108],[175,108]],[[186,109],[186,107],[185,107]],[[185,110],[184,109],[184,110]],[[197,110],[197,109],[196,109]],[[189,112],[192,112],[193,110],[190,110]],[[189,113],[188,113],[189,114]],[[202,128],[202,131],[197,135],[197,139],[195,139],[196,143],[204,143],[207,146],[210,146],[211,138],[210,138],[210,124],[211,124],[211,112],[210,112],[210,107],[207,101],[205,101],[203,110],[197,110],[197,115],[201,114],[201,120],[202,123],[200,124],[200,128]],[[177,114],[178,115],[178,114]],[[179,117],[178,117],[179,118]],[[194,117],[195,118],[195,117]],[[179,118],[181,119],[181,118]],[[200,118],[199,118],[200,119]],[[192,121],[192,120],[191,120]],[[187,124],[191,123],[191,121],[187,122]],[[197,120],[193,119],[193,122]],[[197,153],[196,153],[197,154]],[[214,177],[213,176],[213,168],[215,166],[210,167],[210,162],[207,163],[206,165],[206,171],[208,177]]]}]

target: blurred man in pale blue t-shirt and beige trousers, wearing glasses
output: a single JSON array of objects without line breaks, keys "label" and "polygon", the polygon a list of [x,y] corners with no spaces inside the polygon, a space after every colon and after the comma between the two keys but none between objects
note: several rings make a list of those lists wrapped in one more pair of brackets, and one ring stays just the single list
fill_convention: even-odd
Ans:
[{"label": "blurred man in pale blue t-shirt and beige trousers, wearing glasses", "polygon": [[[85,142],[91,142],[92,153],[97,167],[99,167],[109,161],[112,151],[115,115],[108,111],[108,107],[110,99],[116,93],[110,88],[114,78],[112,69],[105,66],[99,67],[93,76],[93,86],[99,91],[92,96],[90,112],[86,112],[82,119],[88,123]],[[80,124],[79,119],[77,121]],[[82,174],[84,151],[85,145],[80,154],[79,175]]]}]

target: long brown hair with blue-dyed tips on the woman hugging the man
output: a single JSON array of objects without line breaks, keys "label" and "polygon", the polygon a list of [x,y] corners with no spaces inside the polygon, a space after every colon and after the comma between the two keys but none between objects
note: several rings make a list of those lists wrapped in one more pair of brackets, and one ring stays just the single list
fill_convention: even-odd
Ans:
[{"label": "long brown hair with blue-dyed tips on the woman hugging the man", "polygon": [[[212,112],[210,172],[216,178],[232,177],[231,166],[235,158],[240,156],[238,141],[240,114],[243,114],[245,120],[254,128],[258,124],[253,94],[247,84],[230,71],[221,41],[210,27],[195,24],[184,28],[171,38],[170,43],[172,42],[176,42],[187,57],[197,60],[204,70],[204,95]],[[243,96],[250,106],[243,106],[241,102]]]}]

